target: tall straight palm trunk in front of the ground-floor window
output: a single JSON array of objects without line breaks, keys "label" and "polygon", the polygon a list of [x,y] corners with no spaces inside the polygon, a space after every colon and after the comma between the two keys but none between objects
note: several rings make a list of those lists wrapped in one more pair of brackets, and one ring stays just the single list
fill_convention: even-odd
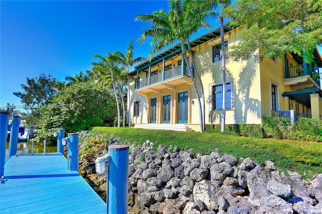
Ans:
[{"label": "tall straight palm trunk in front of the ground-floor window", "polygon": [[221,38],[221,65],[222,65],[222,110],[221,110],[221,132],[225,131],[225,119],[226,119],[226,63],[225,52],[223,50],[225,46],[223,37],[223,17],[220,17],[220,38]]}]

